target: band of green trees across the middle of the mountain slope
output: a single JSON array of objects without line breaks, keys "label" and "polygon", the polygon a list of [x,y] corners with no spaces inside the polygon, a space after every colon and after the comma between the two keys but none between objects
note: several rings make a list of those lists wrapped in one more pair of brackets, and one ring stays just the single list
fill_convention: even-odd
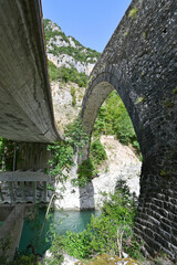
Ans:
[{"label": "band of green trees across the middle of the mountain slope", "polygon": [[87,85],[87,76],[84,73],[79,73],[74,67],[58,68],[51,61],[49,61],[49,75],[51,81],[61,80],[65,83],[74,82],[81,87],[85,87]]}]

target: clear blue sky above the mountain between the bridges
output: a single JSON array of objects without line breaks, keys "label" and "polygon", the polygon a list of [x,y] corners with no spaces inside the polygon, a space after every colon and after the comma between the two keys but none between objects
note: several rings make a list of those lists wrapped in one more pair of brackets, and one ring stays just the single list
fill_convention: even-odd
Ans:
[{"label": "clear blue sky above the mountain between the bridges", "polygon": [[43,18],[84,46],[102,52],[131,0],[42,0]]}]

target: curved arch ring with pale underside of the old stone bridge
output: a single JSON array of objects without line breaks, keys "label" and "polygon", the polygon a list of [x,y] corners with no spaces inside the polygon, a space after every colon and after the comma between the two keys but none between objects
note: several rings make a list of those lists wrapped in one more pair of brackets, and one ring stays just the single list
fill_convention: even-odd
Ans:
[{"label": "curved arch ring with pale underside of the old stone bridge", "polygon": [[[137,99],[140,97],[138,97],[137,95],[136,97],[131,96],[131,94],[128,93],[128,91],[131,91],[131,84],[124,81],[121,72],[117,71],[114,66],[112,66],[111,70],[110,67],[105,67],[102,71],[103,72],[98,73],[96,78],[91,81],[88,89],[83,99],[83,108],[81,114],[83,128],[91,137],[100,107],[107,98],[107,96],[115,89],[121,96],[131,117],[133,127],[137,136],[137,140],[139,142],[140,151],[143,151],[144,157],[146,150],[142,140],[142,125],[137,108]],[[84,158],[88,157],[88,151],[90,147],[87,146]]]}]

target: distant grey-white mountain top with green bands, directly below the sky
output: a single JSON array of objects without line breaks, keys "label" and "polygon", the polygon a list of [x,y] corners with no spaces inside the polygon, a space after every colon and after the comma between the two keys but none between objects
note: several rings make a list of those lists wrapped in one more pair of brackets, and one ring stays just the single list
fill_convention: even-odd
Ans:
[{"label": "distant grey-white mountain top with green bands, directly below the sky", "polygon": [[44,20],[46,53],[58,67],[74,67],[79,73],[90,75],[100,53],[84,47],[73,36],[66,36],[61,28],[51,20]]}]

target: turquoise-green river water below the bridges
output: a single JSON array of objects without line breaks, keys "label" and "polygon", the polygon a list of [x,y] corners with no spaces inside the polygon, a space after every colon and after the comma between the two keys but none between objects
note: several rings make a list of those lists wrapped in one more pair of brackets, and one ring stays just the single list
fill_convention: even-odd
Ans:
[{"label": "turquoise-green river water below the bridges", "polygon": [[[54,212],[51,216],[51,220],[45,222],[44,231],[42,233],[41,240],[39,242],[39,247],[37,253],[43,254],[50,246],[50,225],[53,223],[55,230],[59,234],[64,234],[66,231],[81,232],[86,227],[86,224],[91,220],[91,215],[98,214],[94,210],[90,211],[64,211],[64,212]],[[38,235],[41,231],[42,223],[45,215],[45,209],[40,209],[38,216],[34,220],[25,220],[23,224],[23,230],[21,234],[21,240],[19,244],[19,252],[32,252],[32,245],[35,244]]]}]

